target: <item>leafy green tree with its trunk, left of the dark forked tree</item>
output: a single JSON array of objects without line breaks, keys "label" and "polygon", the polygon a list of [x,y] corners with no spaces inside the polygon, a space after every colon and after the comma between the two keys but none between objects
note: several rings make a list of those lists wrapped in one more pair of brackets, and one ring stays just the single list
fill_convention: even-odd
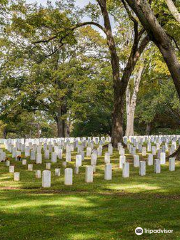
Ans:
[{"label": "leafy green tree with its trunk, left of the dark forked tree", "polygon": [[[17,8],[19,7],[20,6],[17,6]],[[105,41],[94,29],[85,27],[84,33],[83,31],[76,32],[76,40],[75,35],[71,34],[71,39],[64,40],[63,44],[59,43],[57,39],[54,39],[46,42],[46,44],[43,42],[32,45],[32,42],[36,42],[37,39],[35,38],[37,38],[37,36],[39,39],[45,39],[47,38],[47,34],[53,34],[55,31],[54,28],[57,27],[56,25],[53,26],[56,20],[55,14],[57,17],[59,17],[59,15],[56,13],[56,9],[51,8],[51,6],[45,10],[40,8],[39,11],[36,7],[35,10],[30,7],[28,9],[29,10],[26,11],[30,11],[31,14],[28,15],[25,11],[25,16],[27,15],[26,21],[23,20],[25,18],[20,21],[17,11],[17,15],[13,18],[13,24],[10,26],[11,28],[9,27],[10,36],[14,32],[17,33],[19,36],[18,40],[21,44],[18,42],[14,48],[14,42],[10,42],[10,57],[8,57],[8,61],[5,61],[3,64],[4,76],[1,83],[1,86],[3,86],[1,91],[2,104],[8,106],[6,112],[11,111],[11,107],[14,105],[21,105],[22,109],[26,111],[41,111],[41,113],[49,115],[50,119],[53,118],[57,124],[58,136],[65,137],[67,136],[67,126],[70,127],[69,121],[74,124],[74,116],[78,119],[78,117],[82,115],[80,108],[77,109],[76,107],[77,97],[75,96],[76,94],[78,95],[78,92],[81,97],[84,96],[84,89],[80,92],[81,83],[83,84],[85,82],[88,90],[90,84],[94,86],[94,90],[96,91],[91,90],[94,94],[92,94],[93,102],[95,102],[94,98],[97,98],[98,95],[102,97],[107,93],[106,80],[103,80],[104,76],[101,75],[99,80],[96,77],[96,75],[101,72],[99,63],[101,62],[101,65],[104,64],[104,59],[106,59],[107,56]],[[42,15],[42,12],[44,15]],[[53,13],[55,14],[53,15]],[[39,24],[39,21],[36,22],[37,14],[40,15],[39,21],[42,24]],[[50,23],[48,22],[48,26],[44,29],[46,19],[48,19]],[[32,25],[31,27],[30,24]],[[10,36],[7,36],[8,40],[11,39]],[[78,44],[78,41],[81,43],[81,46]],[[26,42],[25,46],[22,44],[23,42]],[[74,45],[74,42],[77,44]],[[85,47],[83,47],[83,42],[85,42]],[[92,42],[94,43],[92,44]],[[66,48],[64,44],[66,44]],[[22,48],[22,46],[24,47]],[[98,55],[94,54],[97,49]],[[90,51],[93,53],[92,56],[90,56]],[[23,59],[21,59],[22,56]],[[20,71],[20,64],[23,65],[23,71]],[[10,71],[9,74],[7,74],[9,65]],[[21,78],[11,78],[12,72],[14,72],[15,75],[17,75],[18,72]],[[29,88],[29,85],[31,85],[31,88]],[[111,83],[110,86],[112,86]],[[84,88],[84,86],[82,87]],[[111,92],[111,89],[109,92]],[[106,106],[111,105],[110,97],[111,95],[109,95],[108,98],[109,104],[106,104]],[[3,99],[8,99],[8,103],[3,103]],[[11,105],[12,101],[14,103],[13,105]],[[88,95],[84,97],[83,101],[87,101],[89,104],[88,110],[92,109]],[[80,104],[83,105],[83,102],[81,101]],[[102,110],[103,108],[99,107],[99,109]],[[110,109],[112,109],[112,107],[110,107]],[[74,112],[76,113],[74,114]],[[106,115],[109,117],[110,112],[105,110],[102,113],[105,112],[107,112]],[[93,113],[92,110],[91,113]],[[101,115],[101,120],[102,117],[103,114]],[[101,120],[99,120],[99,123]],[[88,125],[90,122],[88,121]],[[103,131],[107,133],[104,127]]]}]

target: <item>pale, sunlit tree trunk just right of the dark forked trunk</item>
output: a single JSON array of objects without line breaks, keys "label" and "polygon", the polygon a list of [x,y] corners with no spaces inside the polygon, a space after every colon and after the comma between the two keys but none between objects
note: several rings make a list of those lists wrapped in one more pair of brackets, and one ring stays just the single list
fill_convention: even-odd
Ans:
[{"label": "pale, sunlit tree trunk just right of the dark forked trunk", "polygon": [[134,115],[136,110],[137,103],[137,94],[139,91],[139,85],[142,77],[144,66],[139,68],[137,76],[134,77],[134,87],[133,93],[131,96],[130,85],[128,84],[126,90],[126,114],[127,114],[127,123],[126,123],[126,136],[134,136]]}]

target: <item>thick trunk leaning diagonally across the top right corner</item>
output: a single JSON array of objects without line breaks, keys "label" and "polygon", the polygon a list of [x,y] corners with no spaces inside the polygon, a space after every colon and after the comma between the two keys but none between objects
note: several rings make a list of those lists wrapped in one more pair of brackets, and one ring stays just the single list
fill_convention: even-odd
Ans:
[{"label": "thick trunk leaning diagonally across the top right corner", "polygon": [[[175,54],[170,38],[163,27],[159,24],[147,0],[126,0],[126,2],[138,16],[151,40],[159,48],[171,73],[174,85],[180,98],[180,63]],[[173,156],[180,158],[180,147]]]}]

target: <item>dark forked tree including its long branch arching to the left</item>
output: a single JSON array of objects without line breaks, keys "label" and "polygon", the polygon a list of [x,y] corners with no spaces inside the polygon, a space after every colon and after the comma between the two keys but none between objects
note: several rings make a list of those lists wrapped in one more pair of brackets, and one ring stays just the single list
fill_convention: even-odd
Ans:
[{"label": "dark forked tree including its long branch arching to the left", "polygon": [[[147,46],[149,42],[148,36],[144,36],[144,30],[140,29],[138,27],[138,21],[131,15],[128,7],[126,6],[126,3],[124,2],[124,6],[126,7],[127,13],[130,16],[131,20],[133,21],[133,29],[134,29],[134,42],[132,44],[132,49],[130,52],[130,55],[128,57],[126,67],[124,68],[123,75],[120,77],[120,62],[119,62],[119,57],[117,54],[117,45],[115,43],[115,38],[112,32],[112,27],[111,27],[111,22],[110,22],[110,17],[109,17],[109,12],[108,12],[108,7],[109,4],[111,6],[111,9],[116,7],[120,7],[117,3],[113,5],[113,2],[107,2],[106,0],[97,0],[98,6],[100,8],[101,14],[103,16],[104,20],[104,26],[100,25],[98,22],[95,21],[87,21],[87,22],[79,22],[79,19],[71,18],[71,23],[69,21],[61,21],[61,17],[63,15],[63,11],[59,13],[59,22],[61,22],[61,25],[57,23],[54,24],[53,26],[55,27],[55,31],[52,32],[51,36],[47,36],[46,38],[40,38],[39,40],[35,40],[34,43],[49,43],[52,40],[56,40],[60,42],[62,45],[66,43],[66,38],[70,39],[70,36],[72,33],[83,26],[87,25],[92,25],[98,27],[100,30],[102,30],[107,39],[107,45],[109,48],[109,54],[111,58],[111,67],[112,67],[112,75],[113,75],[113,88],[114,88],[114,110],[113,110],[113,120],[112,120],[112,131],[111,131],[111,136],[112,136],[112,143],[115,147],[117,147],[118,142],[123,142],[123,111],[124,111],[124,97],[125,97],[125,92],[126,88],[128,85],[128,81],[130,79],[130,76],[134,70],[134,67],[144,51],[145,47]],[[62,2],[60,3],[61,9],[62,8]],[[94,8],[94,4],[91,4],[91,8]],[[57,12],[59,10],[56,10]],[[41,16],[43,11],[39,11],[41,13]],[[98,15],[96,14],[97,12],[93,13],[93,15]],[[38,14],[37,14],[38,16]],[[39,18],[39,16],[38,16]],[[27,18],[28,19],[28,27],[31,26],[33,23],[32,21],[32,16]],[[22,18],[18,18],[18,22],[24,22]],[[39,24],[40,23],[40,24]],[[46,23],[46,21],[45,21]],[[70,24],[69,24],[70,23]],[[42,21],[38,22],[38,28],[41,28],[44,26],[43,19]],[[61,26],[61,28],[59,28]],[[31,29],[31,28],[30,28]],[[34,30],[34,29],[33,29]],[[53,53],[52,53],[53,54]]]}]

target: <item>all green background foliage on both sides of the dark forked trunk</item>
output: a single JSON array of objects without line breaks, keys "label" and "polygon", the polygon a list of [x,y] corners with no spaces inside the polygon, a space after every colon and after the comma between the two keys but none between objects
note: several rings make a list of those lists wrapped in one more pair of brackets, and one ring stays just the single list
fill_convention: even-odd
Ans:
[{"label": "all green background foliage on both sides of the dark forked trunk", "polygon": [[[83,9],[73,0],[57,1],[55,6],[49,1],[45,7],[26,4],[24,0],[9,1],[9,4],[1,1],[1,4],[2,126],[6,125],[9,134],[12,131],[24,136],[29,134],[25,130],[26,118],[29,125],[31,121],[37,124],[37,116],[42,115],[41,129],[48,136],[56,135],[55,124],[59,121],[69,125],[71,136],[110,134],[113,85],[106,39],[91,26],[73,30],[84,18],[101,23],[97,2]],[[179,55],[179,24],[164,0],[152,1],[152,7]],[[107,9],[122,76],[134,39],[133,22],[120,1],[108,0]],[[144,125],[149,123],[154,131],[160,126],[176,129],[179,100],[167,66],[152,43],[131,76],[131,92],[141,61],[145,62],[145,69],[135,114],[137,134],[144,134]]]}]

